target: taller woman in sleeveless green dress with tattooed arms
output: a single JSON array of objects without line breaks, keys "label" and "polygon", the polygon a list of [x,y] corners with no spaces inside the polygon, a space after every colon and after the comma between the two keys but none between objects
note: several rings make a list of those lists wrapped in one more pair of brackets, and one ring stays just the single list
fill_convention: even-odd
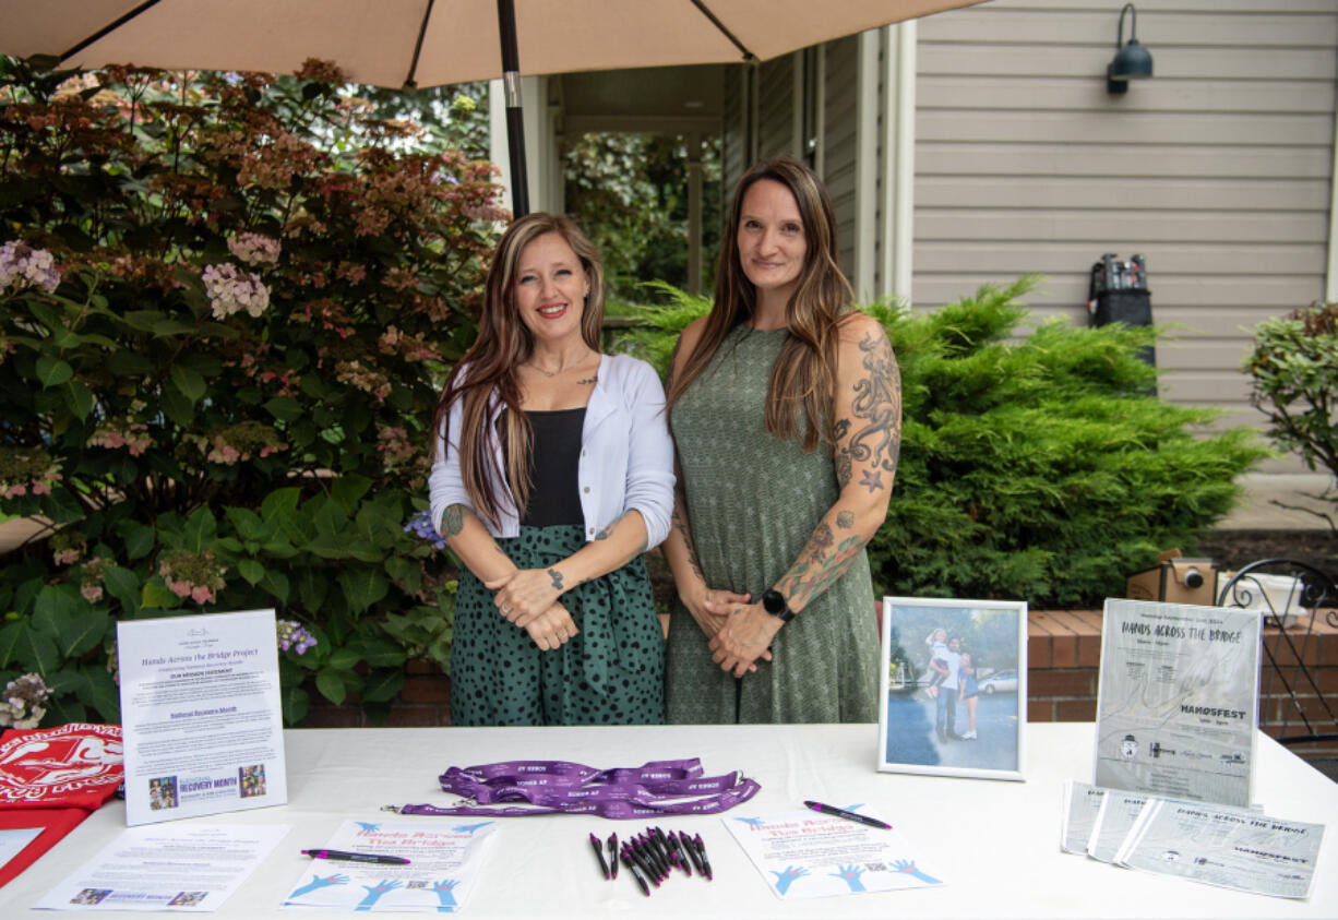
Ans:
[{"label": "taller woman in sleeveless green dress with tattooed arms", "polygon": [[803,163],[739,182],[714,305],[678,340],[668,401],[669,721],[876,722],[864,544],[896,473],[900,377],[851,309],[831,199]]}]

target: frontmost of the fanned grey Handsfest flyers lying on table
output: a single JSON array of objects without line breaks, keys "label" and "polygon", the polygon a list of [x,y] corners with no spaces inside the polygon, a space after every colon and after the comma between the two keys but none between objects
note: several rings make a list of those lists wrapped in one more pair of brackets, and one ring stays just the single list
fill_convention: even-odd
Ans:
[{"label": "frontmost of the fanned grey Handsfest flyers lying on table", "polygon": [[1116,861],[1236,891],[1307,897],[1323,836],[1322,824],[1153,800]]}]

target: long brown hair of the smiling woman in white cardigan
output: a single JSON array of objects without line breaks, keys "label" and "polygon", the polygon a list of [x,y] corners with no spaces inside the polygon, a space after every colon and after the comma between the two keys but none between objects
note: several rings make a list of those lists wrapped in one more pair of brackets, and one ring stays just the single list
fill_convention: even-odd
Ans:
[{"label": "long brown hair of the smiling woman in white cardigan", "polygon": [[[529,214],[507,227],[498,242],[483,289],[478,338],[451,370],[432,416],[435,457],[440,447],[438,432],[443,431],[451,405],[460,401],[460,443],[454,445],[460,452],[460,477],[475,513],[494,526],[500,519],[502,505],[490,488],[490,471],[504,476],[522,513],[530,497],[531,429],[530,420],[520,411],[516,369],[534,353],[534,336],[515,309],[515,282],[524,247],[550,233],[566,241],[585,269],[590,293],[581,316],[581,337],[591,349],[599,350],[603,328],[603,265],[599,253],[570,218],[542,211]],[[504,409],[500,419],[500,424],[506,425],[504,471],[496,469],[499,433],[488,424],[498,402]],[[447,451],[451,448],[446,444]]]}]

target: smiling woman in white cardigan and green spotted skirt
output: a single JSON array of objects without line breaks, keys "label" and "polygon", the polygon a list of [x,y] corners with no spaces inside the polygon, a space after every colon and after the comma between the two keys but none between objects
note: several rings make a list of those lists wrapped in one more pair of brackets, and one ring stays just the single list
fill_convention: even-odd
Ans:
[{"label": "smiling woman in white cardigan and green spotted skirt", "polygon": [[454,725],[664,722],[641,554],[669,531],[673,444],[660,377],[601,354],[602,324],[590,241],[565,217],[512,223],[432,427],[432,520],[464,563]]}]

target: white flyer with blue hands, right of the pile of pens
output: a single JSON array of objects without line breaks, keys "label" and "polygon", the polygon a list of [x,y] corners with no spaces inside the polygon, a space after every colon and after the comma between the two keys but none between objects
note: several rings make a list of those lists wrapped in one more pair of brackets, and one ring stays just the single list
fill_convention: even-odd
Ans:
[{"label": "white flyer with blue hands, right of the pile of pens", "polygon": [[808,810],[721,821],[781,900],[943,884],[895,829]]}]

